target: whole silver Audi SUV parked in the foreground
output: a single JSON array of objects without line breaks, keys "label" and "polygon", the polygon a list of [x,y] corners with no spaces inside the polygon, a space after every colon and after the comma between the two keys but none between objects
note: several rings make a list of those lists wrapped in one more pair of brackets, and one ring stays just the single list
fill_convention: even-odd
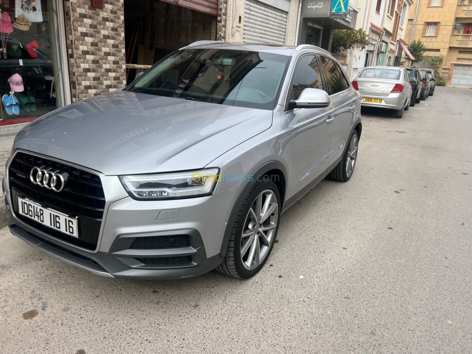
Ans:
[{"label": "whole silver Audi SUV parked in the foreground", "polygon": [[361,131],[359,94],[329,52],[196,42],[21,130],[8,226],[106,277],[249,278],[281,213],[322,178],[349,180]]}]

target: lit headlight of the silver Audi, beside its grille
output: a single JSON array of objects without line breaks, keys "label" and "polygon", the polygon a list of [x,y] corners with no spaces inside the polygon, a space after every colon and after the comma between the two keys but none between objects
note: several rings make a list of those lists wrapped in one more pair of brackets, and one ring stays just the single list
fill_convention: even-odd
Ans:
[{"label": "lit headlight of the silver Audi, beside its grille", "polygon": [[120,176],[126,191],[135,199],[178,199],[210,195],[218,179],[219,169],[155,175]]}]

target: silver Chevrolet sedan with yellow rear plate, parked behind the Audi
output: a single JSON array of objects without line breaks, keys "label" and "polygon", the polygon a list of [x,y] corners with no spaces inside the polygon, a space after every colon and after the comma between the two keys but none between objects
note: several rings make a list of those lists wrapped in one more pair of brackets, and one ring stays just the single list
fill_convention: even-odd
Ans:
[{"label": "silver Chevrolet sedan with yellow rear plate, parked behind the Audi", "polygon": [[365,67],[352,84],[361,106],[395,110],[396,118],[410,109],[412,86],[404,67]]}]

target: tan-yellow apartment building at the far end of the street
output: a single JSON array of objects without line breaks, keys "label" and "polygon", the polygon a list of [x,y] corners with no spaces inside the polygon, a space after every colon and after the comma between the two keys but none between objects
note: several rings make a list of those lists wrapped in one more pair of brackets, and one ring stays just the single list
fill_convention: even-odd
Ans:
[{"label": "tan-yellow apartment building at the far end of the street", "polygon": [[423,0],[408,16],[406,38],[420,40],[425,55],[445,60],[447,84],[472,86],[472,0]]}]

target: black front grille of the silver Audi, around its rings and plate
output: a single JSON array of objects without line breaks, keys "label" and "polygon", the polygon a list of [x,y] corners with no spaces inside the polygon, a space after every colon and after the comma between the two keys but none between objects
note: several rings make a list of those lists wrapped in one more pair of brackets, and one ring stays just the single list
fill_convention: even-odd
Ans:
[{"label": "black front grille of the silver Audi, around its rings and plate", "polygon": [[[34,166],[46,166],[46,168],[67,172],[67,183],[64,189],[57,193],[34,185],[30,180],[30,172]],[[105,208],[105,194],[100,177],[88,171],[25,152],[18,152],[15,155],[8,174],[15,211],[18,211],[17,197],[25,196],[44,207],[78,217],[79,238],[45,227],[17,213],[18,219],[60,240],[88,250],[95,250]]]}]

